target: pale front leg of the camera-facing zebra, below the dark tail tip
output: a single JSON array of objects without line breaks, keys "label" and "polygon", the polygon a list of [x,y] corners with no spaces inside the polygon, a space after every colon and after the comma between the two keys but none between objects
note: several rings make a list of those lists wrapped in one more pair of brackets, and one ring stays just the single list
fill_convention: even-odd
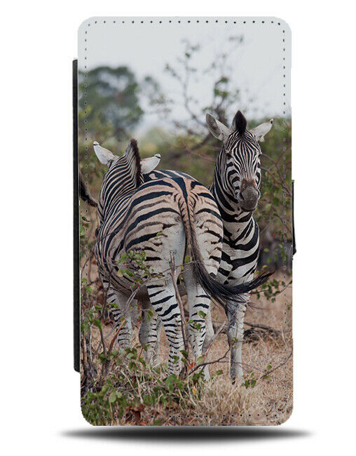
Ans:
[{"label": "pale front leg of the camera-facing zebra, below the dark tail tip", "polygon": [[243,321],[249,302],[249,293],[241,295],[241,302],[228,301],[228,344],[231,350],[230,375],[233,381],[240,381],[243,377],[242,369],[242,342]]}]

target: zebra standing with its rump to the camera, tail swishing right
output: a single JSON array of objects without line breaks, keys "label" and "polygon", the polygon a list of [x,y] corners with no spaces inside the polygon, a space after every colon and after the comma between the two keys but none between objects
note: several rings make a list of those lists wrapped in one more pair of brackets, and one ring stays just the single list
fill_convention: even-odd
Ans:
[{"label": "zebra standing with its rump to the camera, tail swishing right", "polygon": [[[221,304],[238,301],[241,293],[266,281],[261,275],[250,283],[228,286],[214,277],[221,261],[223,225],[212,194],[198,182],[183,176],[163,177],[144,183],[144,173],[156,167],[158,155],[141,161],[137,142],[131,140],[123,156],[118,157],[94,142],[101,163],[109,168],[103,177],[98,200],[100,224],[97,230],[95,256],[97,267],[107,293],[107,301],[116,304],[116,326],[121,348],[129,347],[132,337],[132,317],[128,297],[135,287],[135,273],[140,272],[135,255],[144,252],[146,280],[140,283],[135,295],[142,302],[143,321],[139,340],[147,346],[146,358],[151,360],[156,347],[159,322],[170,344],[168,373],[182,368],[182,315],[177,303],[174,282],[180,269],[170,271],[172,264],[184,264],[182,276],[189,300],[189,342],[195,360],[202,355],[205,342],[205,315],[210,311],[210,298]],[[123,269],[123,255],[132,261]],[[151,274],[150,271],[154,271]],[[141,271],[142,272],[142,271]],[[155,314],[146,318],[153,307]],[[204,368],[205,376],[209,373]]]}]

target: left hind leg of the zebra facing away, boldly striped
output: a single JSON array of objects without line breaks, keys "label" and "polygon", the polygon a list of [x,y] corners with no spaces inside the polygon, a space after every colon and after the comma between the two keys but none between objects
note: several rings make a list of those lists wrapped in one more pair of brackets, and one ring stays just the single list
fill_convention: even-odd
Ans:
[{"label": "left hind leg of the zebra facing away, boldly striped", "polygon": [[149,299],[153,309],[160,317],[165,334],[170,344],[168,373],[179,374],[182,369],[182,354],[184,341],[182,334],[182,318],[172,283],[151,284],[147,286]]}]

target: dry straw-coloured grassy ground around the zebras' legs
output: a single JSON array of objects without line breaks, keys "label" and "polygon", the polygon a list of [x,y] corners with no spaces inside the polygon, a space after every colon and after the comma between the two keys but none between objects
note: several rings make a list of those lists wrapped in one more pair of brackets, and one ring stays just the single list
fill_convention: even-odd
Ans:
[{"label": "dry straw-coloured grassy ground around the zebras' legs", "polygon": [[[277,279],[284,279],[276,274]],[[287,282],[289,277],[285,277]],[[247,309],[245,321],[262,323],[280,331],[280,337],[256,342],[244,343],[242,362],[246,378],[257,379],[254,388],[246,388],[241,384],[232,384],[228,375],[228,356],[219,363],[210,366],[210,373],[222,370],[222,375],[215,376],[205,385],[202,396],[192,398],[195,407],[190,410],[174,410],[155,408],[146,409],[142,413],[144,422],[152,424],[160,419],[163,424],[172,425],[218,425],[218,424],[280,424],[285,422],[292,413],[292,356],[285,360],[292,351],[292,286],[289,286],[276,297],[275,302],[264,297],[252,298],[254,307]],[[213,321],[219,326],[226,319],[224,311],[213,307]],[[248,326],[245,327],[246,329]],[[104,327],[109,333],[111,324]],[[94,332],[95,345],[99,343],[99,335]],[[111,337],[108,337],[109,344]],[[167,339],[162,333],[161,361],[167,359]],[[135,343],[138,343],[137,328]],[[224,355],[228,347],[226,335],[221,333],[210,349],[210,361]],[[283,366],[282,363],[285,363]],[[271,373],[268,380],[259,378],[266,373],[267,366]],[[121,424],[121,423],[117,423]]]}]

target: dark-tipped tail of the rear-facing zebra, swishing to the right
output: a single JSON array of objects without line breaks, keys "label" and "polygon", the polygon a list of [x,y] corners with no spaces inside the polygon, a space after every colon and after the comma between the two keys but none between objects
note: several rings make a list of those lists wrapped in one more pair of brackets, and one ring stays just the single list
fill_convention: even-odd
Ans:
[{"label": "dark-tipped tail of the rear-facing zebra, swishing to the right", "polygon": [[273,274],[271,271],[264,272],[263,274],[259,274],[259,276],[257,276],[252,281],[241,283],[240,285],[235,286],[224,285],[224,283],[220,283],[217,281],[217,279],[214,279],[214,277],[208,273],[203,261],[203,257],[200,253],[200,248],[196,236],[196,227],[192,222],[193,205],[187,204],[186,210],[188,211],[188,214],[184,214],[185,211],[182,210],[181,213],[184,228],[186,231],[187,245],[190,246],[193,274],[205,290],[205,293],[207,293],[207,295],[215,301],[219,302],[219,304],[221,304],[224,309],[226,308],[226,300],[241,302],[240,295],[242,293],[249,293],[250,291],[254,290],[254,288],[258,288],[268,280],[268,277]]}]

